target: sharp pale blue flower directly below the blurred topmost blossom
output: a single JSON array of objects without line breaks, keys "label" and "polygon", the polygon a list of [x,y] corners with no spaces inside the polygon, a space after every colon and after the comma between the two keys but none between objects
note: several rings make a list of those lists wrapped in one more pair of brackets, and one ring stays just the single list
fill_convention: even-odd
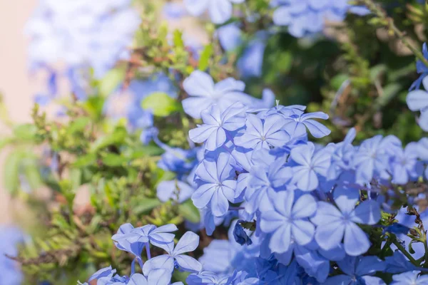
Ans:
[{"label": "sharp pale blue flower directly below the blurred topmost blossom", "polygon": [[190,130],[189,137],[193,142],[206,142],[205,149],[214,151],[227,140],[228,131],[238,130],[245,125],[245,105],[237,102],[220,112],[217,105],[211,105],[200,113],[203,125]]}]

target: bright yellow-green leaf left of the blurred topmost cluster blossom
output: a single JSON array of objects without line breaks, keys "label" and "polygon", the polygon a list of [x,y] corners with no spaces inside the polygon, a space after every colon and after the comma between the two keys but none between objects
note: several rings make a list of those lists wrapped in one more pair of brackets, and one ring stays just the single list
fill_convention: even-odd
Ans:
[{"label": "bright yellow-green leaf left of the blurred topmost cluster blossom", "polygon": [[148,95],[141,102],[141,107],[146,110],[152,110],[153,114],[159,117],[166,117],[170,113],[181,109],[180,103],[163,92],[155,92]]}]

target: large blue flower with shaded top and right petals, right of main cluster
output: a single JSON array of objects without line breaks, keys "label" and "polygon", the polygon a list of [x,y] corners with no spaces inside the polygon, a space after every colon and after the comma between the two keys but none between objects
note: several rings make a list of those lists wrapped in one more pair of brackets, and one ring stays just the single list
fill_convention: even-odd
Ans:
[{"label": "large blue flower with shaded top and right petals, right of main cluster", "polygon": [[322,249],[328,250],[344,239],[348,255],[364,254],[370,248],[370,241],[355,223],[376,224],[380,219],[379,204],[365,200],[355,207],[360,193],[347,187],[337,188],[334,196],[339,209],[330,203],[318,202],[317,214],[311,219],[317,225],[315,240]]}]

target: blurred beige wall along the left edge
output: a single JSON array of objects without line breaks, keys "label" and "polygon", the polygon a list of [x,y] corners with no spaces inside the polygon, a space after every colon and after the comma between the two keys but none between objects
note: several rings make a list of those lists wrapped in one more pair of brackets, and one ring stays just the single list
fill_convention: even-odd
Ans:
[{"label": "blurred beige wall along the left edge", "polygon": [[[31,117],[36,83],[29,78],[26,66],[26,38],[23,28],[26,19],[36,6],[36,0],[0,0],[0,92],[6,108],[15,122],[28,122]],[[0,124],[0,135],[7,135],[8,128]],[[10,222],[12,207],[3,186],[3,168],[6,151],[0,153],[0,224]]]}]

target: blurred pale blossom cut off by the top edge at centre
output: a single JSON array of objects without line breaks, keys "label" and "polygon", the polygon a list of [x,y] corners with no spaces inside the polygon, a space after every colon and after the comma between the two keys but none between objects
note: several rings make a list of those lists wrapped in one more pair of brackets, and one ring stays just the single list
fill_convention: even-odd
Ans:
[{"label": "blurred pale blossom cut off by the top edge at centre", "polygon": [[208,10],[214,24],[223,24],[232,16],[232,4],[243,1],[245,0],[184,0],[184,5],[193,16],[200,16]]}]

